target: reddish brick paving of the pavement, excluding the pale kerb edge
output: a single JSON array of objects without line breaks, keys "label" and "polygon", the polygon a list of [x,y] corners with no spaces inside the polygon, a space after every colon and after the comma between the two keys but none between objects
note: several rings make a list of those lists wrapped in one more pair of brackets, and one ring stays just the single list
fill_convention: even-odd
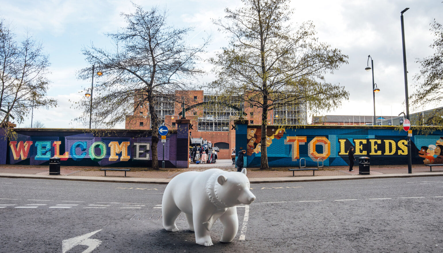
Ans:
[{"label": "reddish brick paving of the pavement, excluding the pale kerb edge", "polygon": [[[93,176],[93,177],[105,177],[105,172],[100,171],[103,167],[80,167],[80,166],[62,166],[60,170],[61,175],[70,176]],[[190,168],[178,169],[160,169],[158,171],[153,171],[150,169],[140,168],[140,167],[124,167],[131,169],[131,171],[126,172],[126,178],[152,178],[152,179],[171,179],[176,175],[184,171],[205,171],[210,168],[218,168],[224,171],[236,171],[234,165],[231,164],[220,164],[215,163],[213,166],[206,164],[205,166],[192,166]],[[418,172],[429,172],[429,167],[423,164],[413,164],[412,173]],[[434,171],[443,171],[442,167],[434,167]],[[382,174],[407,174],[408,165],[371,165],[370,167],[371,175],[382,175]],[[35,166],[35,165],[0,165],[0,173],[12,173],[12,174],[28,174],[28,175],[49,175],[48,166]],[[295,171],[295,177],[292,177],[292,171],[288,171],[287,167],[272,168],[272,170],[262,171],[259,168],[248,168],[249,178],[296,178],[297,176],[312,177],[312,171]],[[349,171],[347,166],[334,166],[334,167],[324,167],[323,170],[315,171],[315,176],[352,176],[358,175],[358,166],[354,167],[354,171]],[[124,178],[124,171],[106,171],[106,176],[108,177],[121,177]]]}]

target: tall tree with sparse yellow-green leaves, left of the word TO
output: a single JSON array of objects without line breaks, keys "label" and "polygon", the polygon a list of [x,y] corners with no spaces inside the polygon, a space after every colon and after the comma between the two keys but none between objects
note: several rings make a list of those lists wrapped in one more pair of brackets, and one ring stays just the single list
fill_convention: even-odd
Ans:
[{"label": "tall tree with sparse yellow-green leaves, left of the word TO", "polygon": [[315,37],[314,25],[297,29],[288,0],[242,0],[244,6],[225,9],[226,21],[214,21],[230,36],[229,47],[212,58],[218,79],[212,88],[262,110],[261,169],[268,169],[268,112],[276,105],[308,106],[328,111],[348,99],[344,87],[325,82],[324,74],[347,63],[347,56]]}]

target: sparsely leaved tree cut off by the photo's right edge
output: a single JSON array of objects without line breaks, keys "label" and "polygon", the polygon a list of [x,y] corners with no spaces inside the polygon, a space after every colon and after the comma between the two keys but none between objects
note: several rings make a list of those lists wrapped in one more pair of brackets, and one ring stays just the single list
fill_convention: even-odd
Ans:
[{"label": "sparsely leaved tree cut off by the photo's right edge", "polygon": [[[443,27],[437,21],[430,24],[429,29],[434,35],[434,42],[429,46],[435,50],[435,53],[427,58],[417,60],[421,65],[420,74],[417,74],[414,79],[419,81],[416,85],[416,92],[414,92],[410,99],[413,108],[423,108],[425,105],[441,104],[443,96]],[[443,108],[435,108],[426,112],[424,118],[416,117],[412,119],[412,125],[434,125],[443,128],[442,125]],[[420,128],[424,130],[425,128]],[[427,128],[426,128],[427,129]]]}]

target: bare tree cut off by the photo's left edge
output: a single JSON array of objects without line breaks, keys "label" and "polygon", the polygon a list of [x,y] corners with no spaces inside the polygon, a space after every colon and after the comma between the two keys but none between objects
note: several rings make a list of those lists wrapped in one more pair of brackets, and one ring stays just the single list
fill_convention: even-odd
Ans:
[{"label": "bare tree cut off by the photo's left edge", "polygon": [[57,105],[57,101],[46,94],[50,63],[42,44],[29,34],[22,42],[17,42],[15,36],[9,25],[0,19],[1,124],[11,115],[21,123],[33,106]]}]

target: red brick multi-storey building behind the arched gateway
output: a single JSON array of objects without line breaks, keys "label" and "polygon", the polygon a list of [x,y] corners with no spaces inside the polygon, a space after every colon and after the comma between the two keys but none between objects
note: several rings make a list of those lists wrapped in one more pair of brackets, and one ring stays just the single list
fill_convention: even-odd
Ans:
[{"label": "red brick multi-storey building behind the arched gateway", "polygon": [[[247,102],[232,101],[228,105],[218,101],[217,93],[205,93],[203,90],[176,91],[174,95],[186,101],[185,116],[192,125],[190,136],[202,137],[203,140],[209,140],[215,147],[220,148],[219,159],[230,159],[231,148],[235,146],[233,120],[238,119],[241,111],[244,112],[243,117],[250,125],[261,125],[261,109]],[[183,104],[168,99],[157,102],[155,110],[159,117],[159,125],[164,123],[168,128],[174,129],[175,120],[181,117]],[[148,105],[141,105],[135,109],[134,115],[126,118],[125,128],[150,129],[152,126]],[[269,125],[306,125],[306,109],[300,110],[298,105],[276,107],[268,112],[268,119]]]}]

